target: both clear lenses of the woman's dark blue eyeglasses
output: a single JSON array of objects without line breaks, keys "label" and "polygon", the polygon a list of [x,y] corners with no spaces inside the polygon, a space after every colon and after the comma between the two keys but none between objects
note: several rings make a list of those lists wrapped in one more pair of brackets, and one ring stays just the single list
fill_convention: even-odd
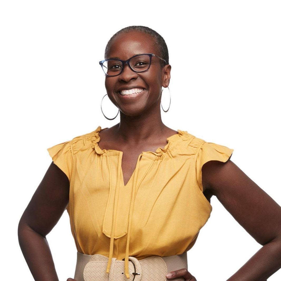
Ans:
[{"label": "both clear lenses of the woman's dark blue eyeglasses", "polygon": [[[131,58],[130,66],[134,71],[145,71],[149,68],[150,65],[150,56],[149,55],[139,55]],[[122,70],[122,62],[119,60],[106,60],[103,65],[103,71],[107,75],[117,75]]]}]

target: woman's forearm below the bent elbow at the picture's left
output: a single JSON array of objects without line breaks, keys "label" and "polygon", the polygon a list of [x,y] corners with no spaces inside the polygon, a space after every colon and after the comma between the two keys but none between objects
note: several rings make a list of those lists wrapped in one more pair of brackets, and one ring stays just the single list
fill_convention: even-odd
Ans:
[{"label": "woman's forearm below the bent elbow at the picture's left", "polygon": [[24,223],[19,224],[21,251],[35,281],[58,281],[55,264],[46,237]]}]

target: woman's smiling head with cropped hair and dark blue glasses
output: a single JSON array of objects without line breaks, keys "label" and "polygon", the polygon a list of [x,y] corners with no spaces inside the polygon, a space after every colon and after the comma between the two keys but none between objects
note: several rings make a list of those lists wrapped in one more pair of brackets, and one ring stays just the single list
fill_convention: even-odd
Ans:
[{"label": "woman's smiling head with cropped hair and dark blue glasses", "polygon": [[[161,88],[168,87],[171,71],[164,39],[157,34],[152,36],[153,32],[148,31],[125,28],[117,32],[106,46],[105,60],[99,62],[106,75],[108,98],[119,108],[121,115],[132,116],[140,122],[144,121],[142,113],[146,108],[150,107],[150,114],[160,110]],[[126,96],[119,94],[121,90],[134,88],[144,91],[132,95],[124,92]],[[159,123],[156,125],[159,127]]]}]

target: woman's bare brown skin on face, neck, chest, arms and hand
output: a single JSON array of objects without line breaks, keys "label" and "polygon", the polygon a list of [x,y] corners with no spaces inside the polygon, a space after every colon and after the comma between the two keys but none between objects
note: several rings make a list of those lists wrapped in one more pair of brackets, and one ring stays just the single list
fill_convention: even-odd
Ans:
[{"label": "woman's bare brown skin on face, neck, chest, arms and hand", "polygon": [[[121,33],[112,41],[108,56],[122,60],[139,53],[160,56],[154,43],[153,38],[139,31]],[[124,152],[122,170],[125,185],[142,151],[164,148],[166,138],[177,133],[162,123],[160,112],[161,88],[169,85],[170,72],[171,65],[161,68],[160,59],[153,57],[146,72],[135,73],[125,65],[121,75],[105,78],[108,97],[120,109],[120,123],[100,133],[99,146]],[[117,93],[123,86],[140,86],[146,92],[135,99],[125,100]],[[227,281],[267,280],[281,268],[281,207],[231,160],[207,162],[202,168],[202,181],[206,198],[210,201],[211,196],[216,196],[262,245]],[[35,280],[58,280],[46,235],[62,216],[68,201],[69,180],[52,162],[18,227],[19,244]],[[171,273],[172,276],[167,278],[196,280],[186,269]]]}]

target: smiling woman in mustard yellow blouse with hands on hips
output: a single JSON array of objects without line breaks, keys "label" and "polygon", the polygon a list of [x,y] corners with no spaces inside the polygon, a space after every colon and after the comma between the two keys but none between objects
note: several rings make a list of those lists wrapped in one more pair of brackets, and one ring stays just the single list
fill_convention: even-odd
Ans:
[{"label": "smiling woman in mustard yellow blouse with hands on hips", "polygon": [[19,222],[35,280],[58,280],[46,235],[65,209],[77,248],[75,279],[67,281],[166,273],[196,280],[186,251],[210,216],[212,195],[263,245],[228,280],[267,280],[281,267],[281,207],[230,160],[233,149],[162,123],[171,71],[164,39],[148,27],[124,28],[100,65],[120,123],[48,149],[53,162]]}]

